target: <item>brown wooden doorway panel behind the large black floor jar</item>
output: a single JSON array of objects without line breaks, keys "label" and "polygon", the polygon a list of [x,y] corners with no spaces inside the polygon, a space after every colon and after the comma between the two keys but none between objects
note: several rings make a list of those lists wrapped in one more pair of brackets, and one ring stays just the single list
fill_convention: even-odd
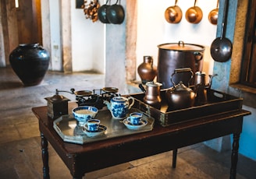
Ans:
[{"label": "brown wooden doorway panel behind the large black floor jar", "polygon": [[[41,0],[0,0],[0,12],[5,59],[2,66],[9,65],[9,54],[19,44],[42,44]],[[18,2],[18,6],[16,6]]]}]

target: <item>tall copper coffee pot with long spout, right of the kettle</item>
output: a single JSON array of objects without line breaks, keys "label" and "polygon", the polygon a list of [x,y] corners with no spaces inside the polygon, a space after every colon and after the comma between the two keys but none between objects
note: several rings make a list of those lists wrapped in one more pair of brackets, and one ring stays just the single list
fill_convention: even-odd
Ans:
[{"label": "tall copper coffee pot with long spout, right of the kettle", "polygon": [[208,84],[205,83],[205,73],[204,72],[195,72],[194,75],[194,93],[197,94],[195,99],[195,104],[201,105],[208,102],[207,92],[211,89],[212,78],[217,75],[209,75]]}]

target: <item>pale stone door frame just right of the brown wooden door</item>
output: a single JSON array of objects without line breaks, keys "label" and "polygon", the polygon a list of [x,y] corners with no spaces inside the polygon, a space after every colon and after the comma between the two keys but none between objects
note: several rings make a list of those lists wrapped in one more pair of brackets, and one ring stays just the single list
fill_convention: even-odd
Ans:
[{"label": "pale stone door frame just right of the brown wooden door", "polygon": [[71,5],[69,0],[41,1],[43,46],[51,54],[49,69],[72,72]]}]

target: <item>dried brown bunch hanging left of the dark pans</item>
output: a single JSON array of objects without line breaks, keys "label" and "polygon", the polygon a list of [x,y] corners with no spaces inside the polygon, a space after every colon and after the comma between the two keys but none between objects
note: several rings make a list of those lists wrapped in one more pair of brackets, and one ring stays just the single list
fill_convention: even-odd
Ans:
[{"label": "dried brown bunch hanging left of the dark pans", "polygon": [[98,0],[93,0],[88,2],[84,1],[84,15],[86,19],[91,19],[92,22],[96,22],[98,20],[98,9],[100,8],[100,4]]}]

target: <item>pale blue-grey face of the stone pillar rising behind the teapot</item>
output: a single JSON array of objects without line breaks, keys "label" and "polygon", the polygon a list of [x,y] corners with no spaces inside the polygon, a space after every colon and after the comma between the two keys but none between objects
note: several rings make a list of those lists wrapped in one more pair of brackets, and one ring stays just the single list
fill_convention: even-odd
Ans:
[{"label": "pale blue-grey face of the stone pillar rising behind the teapot", "polygon": [[[126,1],[121,1],[126,9]],[[106,25],[105,85],[116,87],[119,93],[127,93],[126,84],[126,19],[122,24]]]}]

